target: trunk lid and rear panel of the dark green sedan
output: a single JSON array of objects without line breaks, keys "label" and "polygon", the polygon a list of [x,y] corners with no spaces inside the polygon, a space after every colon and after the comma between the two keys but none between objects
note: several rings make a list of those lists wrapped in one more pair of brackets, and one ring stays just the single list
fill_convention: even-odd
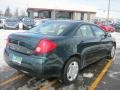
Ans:
[{"label": "trunk lid and rear panel of the dark green sedan", "polygon": [[30,32],[11,34],[9,36],[9,48],[20,53],[31,55],[34,54],[34,49],[38,42],[44,38],[52,38],[52,36]]}]

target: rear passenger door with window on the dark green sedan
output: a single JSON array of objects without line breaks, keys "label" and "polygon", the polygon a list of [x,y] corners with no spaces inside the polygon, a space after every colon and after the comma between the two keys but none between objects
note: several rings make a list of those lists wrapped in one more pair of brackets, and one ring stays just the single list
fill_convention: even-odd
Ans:
[{"label": "rear passenger door with window on the dark green sedan", "polygon": [[77,50],[81,54],[83,60],[82,65],[86,66],[100,58],[98,56],[100,40],[95,37],[89,24],[81,25],[76,32],[77,36],[80,32],[82,34],[82,37],[80,37],[82,40],[80,39]]}]

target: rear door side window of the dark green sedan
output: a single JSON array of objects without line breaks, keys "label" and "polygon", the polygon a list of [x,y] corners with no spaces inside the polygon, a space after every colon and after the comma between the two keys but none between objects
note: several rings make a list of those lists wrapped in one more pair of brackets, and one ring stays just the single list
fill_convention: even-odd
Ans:
[{"label": "rear door side window of the dark green sedan", "polygon": [[82,33],[82,36],[85,38],[94,37],[93,31],[89,25],[80,26],[80,31]]}]

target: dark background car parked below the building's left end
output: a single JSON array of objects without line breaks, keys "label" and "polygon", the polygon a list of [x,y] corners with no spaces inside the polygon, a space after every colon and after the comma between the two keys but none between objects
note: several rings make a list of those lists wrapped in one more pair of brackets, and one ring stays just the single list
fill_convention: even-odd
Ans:
[{"label": "dark background car parked below the building's left end", "polygon": [[35,26],[34,20],[29,17],[22,18],[22,23],[23,23],[23,29],[25,30],[31,29]]}]

